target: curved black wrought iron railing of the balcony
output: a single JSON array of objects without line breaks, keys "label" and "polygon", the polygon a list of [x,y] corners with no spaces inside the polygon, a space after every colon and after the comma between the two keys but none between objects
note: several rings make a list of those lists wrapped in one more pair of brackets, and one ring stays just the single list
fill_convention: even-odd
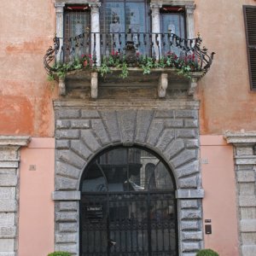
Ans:
[{"label": "curved black wrought iron railing of the balcony", "polygon": [[164,63],[159,67],[186,66],[191,72],[207,73],[214,55],[201,47],[200,35],[185,39],[173,33],[84,32],[74,38],[55,37],[53,41],[54,46],[44,55],[44,67],[49,74],[68,63],[70,70],[101,67],[110,57],[125,61],[128,67],[140,67],[143,61],[150,59]]}]

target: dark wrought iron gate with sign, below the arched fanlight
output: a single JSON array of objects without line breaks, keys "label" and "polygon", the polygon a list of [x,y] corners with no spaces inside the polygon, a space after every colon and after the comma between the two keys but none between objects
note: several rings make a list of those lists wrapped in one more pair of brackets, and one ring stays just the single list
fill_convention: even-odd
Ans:
[{"label": "dark wrought iron gate with sign, below the arched fanlight", "polygon": [[[160,207],[158,207],[159,202]],[[86,217],[84,207],[88,207],[88,205],[96,207],[99,204],[102,204],[102,206],[105,204],[107,207],[103,211],[103,214],[106,215],[99,219]],[[133,218],[129,217],[133,205],[146,206],[146,212],[139,212],[137,208]],[[176,256],[177,237],[175,234],[177,234],[177,223],[174,218],[175,214],[172,218],[170,216],[169,218],[160,218],[160,215],[157,216],[156,214],[161,213],[164,216],[164,212],[159,212],[159,210],[170,205],[173,207],[175,205],[174,191],[83,192],[80,207],[82,250],[80,255]],[[124,212],[125,207],[130,212]],[[152,215],[153,212],[155,213],[154,216]],[[147,219],[145,220],[142,217]],[[84,232],[87,245],[83,244],[84,237],[82,236],[84,236]],[[103,241],[104,238],[106,240],[106,235],[108,244]],[[167,239],[166,236],[168,236]],[[139,237],[141,241],[139,241]],[[91,238],[93,238],[93,245],[91,245]],[[111,239],[117,242],[116,246],[111,247],[109,245]],[[99,243],[97,244],[97,242]],[[141,244],[139,244],[140,242]]]}]

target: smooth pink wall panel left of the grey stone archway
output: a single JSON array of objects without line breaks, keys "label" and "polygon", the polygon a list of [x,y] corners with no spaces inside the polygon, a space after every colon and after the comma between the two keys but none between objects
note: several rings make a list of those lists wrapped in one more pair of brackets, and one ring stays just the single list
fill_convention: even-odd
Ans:
[{"label": "smooth pink wall panel left of the grey stone archway", "polygon": [[[54,250],[55,140],[32,138],[20,153],[19,256],[46,256]],[[35,171],[29,169],[35,166]]]}]

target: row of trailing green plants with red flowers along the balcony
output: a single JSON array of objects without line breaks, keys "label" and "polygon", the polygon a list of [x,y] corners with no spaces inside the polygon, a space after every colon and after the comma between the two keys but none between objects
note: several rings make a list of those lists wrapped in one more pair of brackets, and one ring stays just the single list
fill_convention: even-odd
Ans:
[{"label": "row of trailing green plants with red flowers along the balcony", "polygon": [[[190,73],[194,71],[202,71],[199,66],[195,55],[181,55],[177,56],[175,53],[169,52],[165,56],[162,56],[160,60],[156,60],[155,57],[148,57],[145,55],[139,55],[137,53],[134,63],[128,64],[125,55],[120,55],[118,51],[112,52],[111,55],[104,56],[102,58],[101,67],[98,67],[98,72],[102,77],[111,73],[111,67],[117,67],[120,69],[119,77],[125,79],[129,75],[128,67],[142,68],[143,74],[151,73],[154,68],[174,67],[177,68],[177,74],[190,79]],[[49,74],[48,80],[52,81],[57,76],[59,79],[64,79],[68,72],[73,70],[79,70],[83,68],[95,69],[93,65],[91,55],[82,55],[80,58],[74,58],[73,61],[67,63],[57,62],[53,66],[53,73]]]}]

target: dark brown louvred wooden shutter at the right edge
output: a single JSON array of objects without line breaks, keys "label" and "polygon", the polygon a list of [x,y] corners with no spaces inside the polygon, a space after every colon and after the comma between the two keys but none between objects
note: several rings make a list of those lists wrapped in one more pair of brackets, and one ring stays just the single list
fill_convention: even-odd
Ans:
[{"label": "dark brown louvred wooden shutter at the right edge", "polygon": [[247,36],[247,58],[251,90],[256,90],[256,6],[244,5],[243,13]]}]

